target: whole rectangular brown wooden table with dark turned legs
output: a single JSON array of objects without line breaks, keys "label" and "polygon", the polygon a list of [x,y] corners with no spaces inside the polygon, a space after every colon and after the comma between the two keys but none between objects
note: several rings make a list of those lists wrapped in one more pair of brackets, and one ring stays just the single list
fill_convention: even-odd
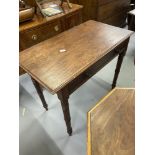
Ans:
[{"label": "whole rectangular brown wooden table with dark turned legs", "polygon": [[115,87],[131,34],[129,30],[87,21],[20,52],[20,66],[32,77],[46,110],[40,85],[58,95],[69,135],[69,95],[119,55],[112,84]]}]

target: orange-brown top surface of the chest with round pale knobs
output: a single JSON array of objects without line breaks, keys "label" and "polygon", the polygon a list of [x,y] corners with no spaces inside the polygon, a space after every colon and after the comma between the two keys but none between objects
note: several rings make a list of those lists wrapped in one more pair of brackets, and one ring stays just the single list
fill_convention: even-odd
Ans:
[{"label": "orange-brown top surface of the chest with round pale knobs", "polygon": [[19,24],[19,32],[22,32],[22,31],[25,31],[25,30],[28,30],[28,29],[32,29],[33,27],[40,26],[40,25],[42,25],[44,23],[50,22],[50,21],[58,19],[58,18],[62,18],[64,16],[66,16],[66,15],[69,15],[72,12],[75,12],[75,11],[77,11],[79,9],[82,9],[83,6],[78,5],[78,4],[72,4],[72,8],[69,9],[67,3],[64,2],[62,8],[64,10],[63,13],[60,13],[60,14],[57,14],[57,15],[54,15],[54,16],[51,16],[51,17],[46,17],[46,18],[45,17],[43,18],[41,15],[35,15],[32,20],[20,23]]}]

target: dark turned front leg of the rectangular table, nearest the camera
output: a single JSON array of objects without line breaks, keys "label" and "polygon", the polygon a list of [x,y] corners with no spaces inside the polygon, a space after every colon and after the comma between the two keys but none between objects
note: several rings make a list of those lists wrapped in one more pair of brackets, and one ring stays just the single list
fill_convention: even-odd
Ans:
[{"label": "dark turned front leg of the rectangular table, nearest the camera", "polygon": [[71,136],[72,135],[72,127],[71,127],[71,117],[70,117],[69,103],[68,103],[68,99],[69,99],[68,91],[67,91],[67,89],[60,90],[57,93],[57,95],[61,102],[64,120],[65,120],[66,126],[67,126],[67,132],[68,132],[69,136]]}]

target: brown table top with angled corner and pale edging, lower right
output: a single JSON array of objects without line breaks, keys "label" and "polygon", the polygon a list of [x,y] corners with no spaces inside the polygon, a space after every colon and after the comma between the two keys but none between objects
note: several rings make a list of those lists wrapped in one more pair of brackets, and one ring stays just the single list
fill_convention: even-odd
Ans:
[{"label": "brown table top with angled corner and pale edging, lower right", "polygon": [[135,154],[135,90],[114,89],[88,112],[87,155]]}]

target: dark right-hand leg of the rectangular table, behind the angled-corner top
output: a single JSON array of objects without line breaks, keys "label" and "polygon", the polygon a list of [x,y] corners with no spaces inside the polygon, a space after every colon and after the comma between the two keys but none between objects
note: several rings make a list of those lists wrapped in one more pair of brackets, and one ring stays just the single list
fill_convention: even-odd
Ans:
[{"label": "dark right-hand leg of the rectangular table, behind the angled-corner top", "polygon": [[123,58],[124,58],[124,56],[126,54],[126,50],[127,50],[127,47],[118,56],[117,65],[116,65],[116,69],[115,69],[115,75],[114,75],[114,79],[113,79],[113,83],[112,83],[112,89],[114,87],[116,87],[116,82],[117,82],[118,75],[119,75],[119,72],[120,72],[120,69],[121,69]]}]

